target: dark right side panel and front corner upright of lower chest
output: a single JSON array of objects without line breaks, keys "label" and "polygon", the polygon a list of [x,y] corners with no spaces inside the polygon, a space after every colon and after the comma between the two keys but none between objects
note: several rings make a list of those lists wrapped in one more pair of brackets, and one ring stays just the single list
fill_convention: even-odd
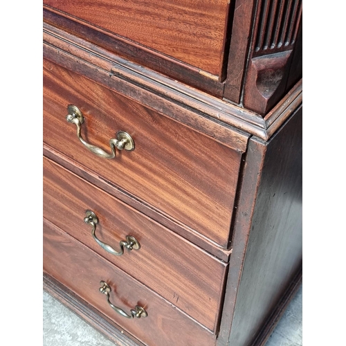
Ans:
[{"label": "dark right side panel and front corner upright of lower chest", "polygon": [[246,162],[219,345],[250,345],[301,268],[302,107]]}]

